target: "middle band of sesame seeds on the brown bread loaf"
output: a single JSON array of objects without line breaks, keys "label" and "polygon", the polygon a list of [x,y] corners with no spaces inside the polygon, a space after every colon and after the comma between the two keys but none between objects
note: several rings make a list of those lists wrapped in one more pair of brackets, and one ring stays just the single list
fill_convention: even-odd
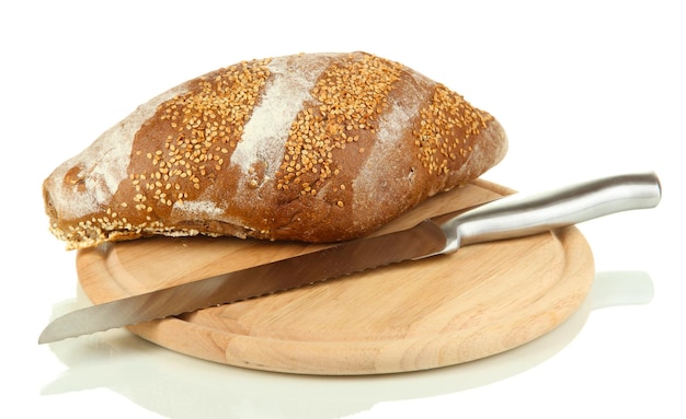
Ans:
[{"label": "middle band of sesame seeds on the brown bread loaf", "polygon": [[[363,130],[377,128],[376,116],[387,106],[388,93],[399,79],[402,66],[373,55],[348,56],[333,63],[310,90],[317,103],[297,115],[286,141],[284,163],[277,174],[278,189],[298,184],[301,176],[315,175],[317,187],[340,173],[332,151],[359,140]],[[364,152],[364,148],[358,149]]]}]

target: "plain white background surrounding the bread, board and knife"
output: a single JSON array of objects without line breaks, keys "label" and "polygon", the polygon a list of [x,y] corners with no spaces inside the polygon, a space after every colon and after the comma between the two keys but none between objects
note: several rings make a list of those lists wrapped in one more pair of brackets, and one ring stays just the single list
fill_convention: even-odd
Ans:
[{"label": "plain white background surrounding the bread, board and knife", "polygon": [[[682,10],[660,0],[3,2],[0,416],[686,417]],[[580,226],[598,276],[578,315],[502,356],[391,376],[240,370],[122,330],[36,344],[77,294],[76,254],[43,212],[55,166],[190,78],[352,50],[405,63],[499,118],[511,149],[489,181],[537,190],[658,172],[656,209]]]}]

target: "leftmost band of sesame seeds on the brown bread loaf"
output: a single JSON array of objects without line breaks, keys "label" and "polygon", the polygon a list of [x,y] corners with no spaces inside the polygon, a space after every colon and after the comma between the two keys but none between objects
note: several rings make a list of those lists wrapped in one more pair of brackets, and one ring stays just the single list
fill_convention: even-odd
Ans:
[{"label": "leftmost band of sesame seeds on the brown bread loaf", "polygon": [[[266,70],[270,61],[244,61],[217,70],[190,82],[186,93],[158,106],[157,125],[141,127],[135,140],[138,149],[135,156],[140,159],[132,167],[139,168],[129,174],[129,179],[136,190],[136,210],[149,216],[147,224],[133,228],[165,229],[150,219],[157,214],[156,206],[174,203],[164,191],[175,190],[173,195],[181,201],[193,190],[193,199],[207,179],[215,178],[228,164],[229,160],[224,158],[241,140],[242,126],[270,77]],[[123,202],[121,208],[127,205]],[[152,223],[158,225],[152,226]]]}]

